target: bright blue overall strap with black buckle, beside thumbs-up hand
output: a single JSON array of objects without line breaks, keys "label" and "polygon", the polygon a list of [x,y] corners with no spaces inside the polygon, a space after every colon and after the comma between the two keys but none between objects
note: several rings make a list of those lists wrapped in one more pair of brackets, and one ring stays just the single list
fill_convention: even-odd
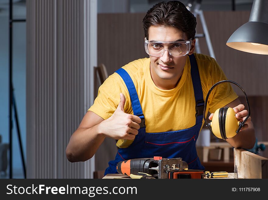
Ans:
[{"label": "bright blue overall strap with black buckle, beside thumbs-up hand", "polygon": [[139,97],[138,97],[135,85],[130,75],[123,68],[118,69],[116,73],[118,73],[123,79],[123,81],[125,82],[125,85],[127,86],[127,89],[129,91],[133,114],[141,118],[142,122],[139,125],[140,125],[140,128],[144,127],[143,129],[145,130],[145,118],[144,118],[143,111],[139,102]]}]

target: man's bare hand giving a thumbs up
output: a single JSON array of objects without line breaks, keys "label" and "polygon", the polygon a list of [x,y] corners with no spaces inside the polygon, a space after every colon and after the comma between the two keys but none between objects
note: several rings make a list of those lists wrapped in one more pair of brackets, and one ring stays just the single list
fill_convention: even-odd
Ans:
[{"label": "man's bare hand giving a thumbs up", "polygon": [[140,128],[141,119],[133,114],[124,111],[125,96],[120,93],[120,102],[114,114],[101,122],[101,132],[113,139],[135,139]]}]

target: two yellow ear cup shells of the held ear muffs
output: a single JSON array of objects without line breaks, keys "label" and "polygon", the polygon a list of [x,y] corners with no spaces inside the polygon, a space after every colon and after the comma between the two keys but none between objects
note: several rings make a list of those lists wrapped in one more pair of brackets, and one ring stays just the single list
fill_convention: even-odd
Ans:
[{"label": "two yellow ear cup shells of the held ear muffs", "polygon": [[[213,134],[220,139],[223,139],[220,135],[220,126],[219,126],[219,111],[220,108],[215,111],[213,114],[212,121],[210,122],[210,126]],[[222,116],[224,118],[224,116]],[[236,131],[239,127],[239,121],[235,117],[234,109],[231,107],[228,108],[225,117],[225,134],[227,138],[234,137],[236,135]]]}]

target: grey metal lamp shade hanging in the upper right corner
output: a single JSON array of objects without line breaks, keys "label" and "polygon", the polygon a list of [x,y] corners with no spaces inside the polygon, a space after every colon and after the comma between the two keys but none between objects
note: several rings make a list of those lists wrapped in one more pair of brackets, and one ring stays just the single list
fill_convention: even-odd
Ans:
[{"label": "grey metal lamp shade hanging in the upper right corner", "polygon": [[228,47],[268,55],[268,1],[255,0],[249,22],[240,26],[227,40]]}]

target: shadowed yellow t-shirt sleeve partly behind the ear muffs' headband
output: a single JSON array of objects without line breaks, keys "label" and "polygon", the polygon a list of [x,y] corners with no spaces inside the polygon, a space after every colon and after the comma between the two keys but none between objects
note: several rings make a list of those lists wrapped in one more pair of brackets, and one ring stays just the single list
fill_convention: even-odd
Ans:
[{"label": "shadowed yellow t-shirt sleeve partly behind the ear muffs' headband", "polygon": [[[219,64],[215,61],[215,59],[212,60],[209,66],[209,72],[210,77],[208,78],[210,78],[210,80],[207,81],[207,92],[215,83],[222,80],[227,80],[226,75],[220,68]],[[221,83],[217,85],[210,93],[208,99],[209,112],[214,113],[218,108],[224,107],[237,98],[238,96],[234,92],[229,82]]]}]

